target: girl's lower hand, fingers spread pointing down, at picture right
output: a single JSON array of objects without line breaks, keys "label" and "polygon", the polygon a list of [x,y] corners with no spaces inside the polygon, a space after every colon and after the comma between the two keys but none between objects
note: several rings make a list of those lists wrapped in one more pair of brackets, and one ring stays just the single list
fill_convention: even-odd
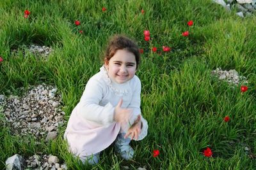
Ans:
[{"label": "girl's lower hand, fingers spread pointing down, at picture right", "polygon": [[134,124],[128,129],[127,133],[125,134],[124,138],[127,138],[131,135],[131,140],[135,137],[135,139],[139,138],[141,132],[141,116],[138,115],[138,118],[135,120]]}]

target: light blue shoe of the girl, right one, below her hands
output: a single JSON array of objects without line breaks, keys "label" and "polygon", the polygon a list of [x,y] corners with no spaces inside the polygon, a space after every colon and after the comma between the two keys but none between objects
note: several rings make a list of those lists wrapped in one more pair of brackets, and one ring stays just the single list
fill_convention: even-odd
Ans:
[{"label": "light blue shoe of the girl, right one, below her hands", "polygon": [[121,157],[125,160],[130,160],[134,156],[134,150],[129,145],[131,139],[126,138],[124,139],[125,134],[118,134],[116,141],[115,141],[115,149],[116,152],[121,155]]}]

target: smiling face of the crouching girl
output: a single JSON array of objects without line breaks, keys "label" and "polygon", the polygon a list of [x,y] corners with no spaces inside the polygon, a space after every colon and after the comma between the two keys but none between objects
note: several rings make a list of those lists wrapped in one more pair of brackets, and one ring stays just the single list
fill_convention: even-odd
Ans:
[{"label": "smiling face of the crouching girl", "polygon": [[136,72],[135,55],[127,50],[117,50],[110,60],[105,60],[108,76],[116,83],[125,83],[133,78]]}]

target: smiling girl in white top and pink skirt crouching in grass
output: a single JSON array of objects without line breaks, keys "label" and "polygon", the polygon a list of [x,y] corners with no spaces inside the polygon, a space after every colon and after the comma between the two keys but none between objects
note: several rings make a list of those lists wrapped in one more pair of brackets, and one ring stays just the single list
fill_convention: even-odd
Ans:
[{"label": "smiling girl in white top and pink skirt crouching in grass", "polygon": [[139,62],[139,48],[131,39],[117,35],[109,41],[104,65],[88,80],[64,134],[70,152],[83,163],[97,164],[99,153],[113,142],[122,158],[132,159],[130,141],[147,136],[141,83],[135,75]]}]

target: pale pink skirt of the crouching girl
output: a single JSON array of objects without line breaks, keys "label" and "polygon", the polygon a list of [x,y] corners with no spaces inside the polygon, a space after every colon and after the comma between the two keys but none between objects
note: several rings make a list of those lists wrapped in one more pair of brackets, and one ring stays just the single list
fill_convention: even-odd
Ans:
[{"label": "pale pink skirt of the crouching girl", "polygon": [[68,120],[64,138],[67,139],[70,152],[83,157],[101,152],[113,143],[120,132],[120,123],[113,122],[103,127],[96,122],[79,117],[76,108]]}]

